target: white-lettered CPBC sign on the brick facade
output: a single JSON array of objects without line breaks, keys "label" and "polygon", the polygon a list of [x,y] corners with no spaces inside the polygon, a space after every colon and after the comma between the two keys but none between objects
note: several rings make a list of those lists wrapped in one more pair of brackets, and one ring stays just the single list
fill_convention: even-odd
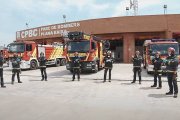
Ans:
[{"label": "white-lettered CPBC sign on the brick facade", "polygon": [[16,32],[16,39],[26,40],[26,39],[38,39],[38,38],[52,37],[52,36],[65,36],[68,34],[69,29],[78,28],[78,27],[80,27],[80,23],[73,22],[73,23],[64,23],[64,24],[27,29]]}]

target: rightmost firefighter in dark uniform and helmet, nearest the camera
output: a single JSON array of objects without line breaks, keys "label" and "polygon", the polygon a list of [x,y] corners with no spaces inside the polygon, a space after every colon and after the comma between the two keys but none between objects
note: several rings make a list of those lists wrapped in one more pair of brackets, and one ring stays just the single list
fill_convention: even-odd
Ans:
[{"label": "rightmost firefighter in dark uniform and helmet, nearest the camera", "polygon": [[174,91],[174,98],[178,95],[178,85],[177,85],[177,69],[178,69],[178,59],[175,55],[175,49],[170,47],[168,49],[169,56],[166,58],[166,70],[167,79],[169,85],[169,92],[166,95],[172,95]]}]

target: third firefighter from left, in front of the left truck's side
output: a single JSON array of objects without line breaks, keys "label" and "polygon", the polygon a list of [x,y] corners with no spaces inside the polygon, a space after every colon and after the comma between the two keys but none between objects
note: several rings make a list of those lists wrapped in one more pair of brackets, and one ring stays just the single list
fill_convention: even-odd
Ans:
[{"label": "third firefighter from left, in front of the left truck's side", "polygon": [[43,80],[47,81],[46,58],[45,58],[43,52],[40,53],[40,57],[38,60],[39,60],[39,67],[40,67],[41,76],[42,76],[41,81],[43,81]]}]

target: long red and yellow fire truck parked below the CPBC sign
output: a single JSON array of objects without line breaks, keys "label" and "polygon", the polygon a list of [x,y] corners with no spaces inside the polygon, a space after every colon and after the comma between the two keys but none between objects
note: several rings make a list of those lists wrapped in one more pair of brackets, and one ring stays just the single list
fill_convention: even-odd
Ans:
[{"label": "long red and yellow fire truck parked below the CPBC sign", "polygon": [[[39,66],[38,57],[40,53],[45,53],[47,65],[65,65],[65,55],[62,44],[39,45],[33,41],[13,42],[8,45],[9,61],[14,53],[21,57],[22,69],[36,69]],[[11,64],[9,64],[11,65]],[[11,66],[10,66],[11,67]]]}]

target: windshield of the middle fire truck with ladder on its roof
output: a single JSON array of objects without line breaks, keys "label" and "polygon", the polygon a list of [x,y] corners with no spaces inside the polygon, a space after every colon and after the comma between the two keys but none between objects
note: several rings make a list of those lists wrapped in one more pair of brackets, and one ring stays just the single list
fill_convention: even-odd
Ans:
[{"label": "windshield of the middle fire truck with ladder on its roof", "polygon": [[68,44],[68,52],[87,52],[89,49],[89,41],[72,41]]}]

